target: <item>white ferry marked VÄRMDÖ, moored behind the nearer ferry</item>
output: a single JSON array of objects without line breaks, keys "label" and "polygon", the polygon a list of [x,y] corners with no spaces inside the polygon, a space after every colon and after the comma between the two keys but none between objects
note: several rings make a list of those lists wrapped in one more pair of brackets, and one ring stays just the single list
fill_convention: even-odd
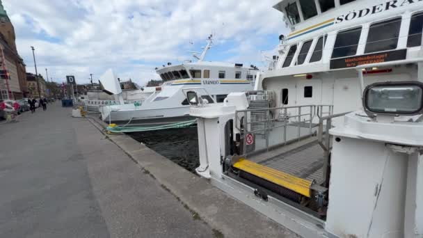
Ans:
[{"label": "white ferry marked V\u00c4RMD\u00d6, moored behind the nearer ferry", "polygon": [[231,92],[253,90],[258,68],[241,63],[204,61],[212,47],[212,36],[198,61],[179,65],[168,63],[157,68],[157,74],[165,81],[142,104],[102,106],[100,112],[105,122],[117,125],[157,126],[192,120],[189,102],[184,90],[202,90],[202,100],[209,103],[223,102]]}]

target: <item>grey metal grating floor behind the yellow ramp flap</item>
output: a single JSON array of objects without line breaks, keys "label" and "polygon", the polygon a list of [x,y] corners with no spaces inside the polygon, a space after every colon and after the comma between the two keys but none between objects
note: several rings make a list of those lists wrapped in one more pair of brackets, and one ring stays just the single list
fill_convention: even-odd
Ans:
[{"label": "grey metal grating floor behind the yellow ramp flap", "polygon": [[316,138],[308,138],[248,159],[305,180],[315,180],[317,184],[324,181],[324,151]]}]

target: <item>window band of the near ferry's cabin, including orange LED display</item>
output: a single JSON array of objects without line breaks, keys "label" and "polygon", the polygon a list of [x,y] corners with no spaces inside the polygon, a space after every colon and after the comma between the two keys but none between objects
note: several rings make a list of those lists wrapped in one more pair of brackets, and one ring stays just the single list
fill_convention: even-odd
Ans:
[{"label": "window band of the near ferry's cabin, including orange LED display", "polygon": [[[300,2],[301,0],[296,1],[298,4]],[[303,67],[300,72],[307,73],[378,63],[378,57],[380,62],[415,58],[422,45],[422,27],[423,10],[411,9],[393,12],[389,17],[371,18],[365,22],[351,21],[346,28],[329,26],[327,30],[306,33],[298,38],[294,35],[284,42],[285,50],[280,51],[276,69],[293,70],[292,67],[295,67],[299,70]],[[404,52],[398,51],[400,49]],[[373,55],[378,53],[386,53],[388,57]],[[367,60],[351,58],[367,55],[371,55]],[[338,62],[341,58],[346,59],[344,63]]]}]

